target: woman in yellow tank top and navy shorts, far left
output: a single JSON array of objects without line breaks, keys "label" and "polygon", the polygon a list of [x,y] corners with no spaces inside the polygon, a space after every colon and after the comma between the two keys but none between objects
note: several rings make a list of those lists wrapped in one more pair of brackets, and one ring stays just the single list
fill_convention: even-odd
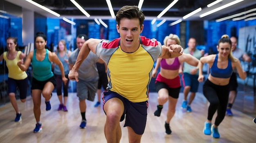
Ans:
[{"label": "woman in yellow tank top and navy shorts, far left", "polygon": [[0,56],[0,61],[3,59],[6,61],[6,65],[8,68],[8,93],[11,104],[16,111],[16,118],[14,121],[21,121],[21,113],[18,108],[18,104],[15,98],[15,93],[17,87],[20,91],[20,101],[25,102],[27,98],[27,86],[28,86],[28,78],[27,73],[22,71],[20,67],[18,67],[17,63],[20,60],[25,58],[25,54],[21,51],[17,50],[17,39],[14,37],[7,38],[7,52],[4,52]]}]

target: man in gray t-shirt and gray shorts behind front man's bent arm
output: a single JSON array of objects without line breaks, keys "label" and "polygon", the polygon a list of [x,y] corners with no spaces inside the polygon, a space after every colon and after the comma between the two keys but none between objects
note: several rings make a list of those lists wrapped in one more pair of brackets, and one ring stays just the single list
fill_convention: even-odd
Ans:
[{"label": "man in gray t-shirt and gray shorts behind front man's bent arm", "polygon": [[[86,35],[78,35],[76,37],[77,49],[74,50],[69,58],[68,62],[70,70],[76,63],[76,58],[81,50],[83,43],[88,40]],[[79,82],[76,84],[77,97],[79,98],[79,108],[81,111],[82,122],[80,128],[86,127],[86,102],[85,100],[94,101],[95,94],[97,92],[99,74],[96,63],[104,63],[99,56],[90,51],[88,57],[83,61],[81,67],[78,69]]]}]

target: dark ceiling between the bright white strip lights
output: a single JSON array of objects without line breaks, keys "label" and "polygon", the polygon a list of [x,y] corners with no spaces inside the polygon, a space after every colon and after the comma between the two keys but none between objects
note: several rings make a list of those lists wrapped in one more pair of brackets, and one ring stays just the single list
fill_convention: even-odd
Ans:
[{"label": "dark ceiling between the bright white strip lights", "polygon": [[[43,9],[30,4],[25,0],[5,0],[21,6],[22,8],[29,9],[31,11],[35,11],[41,15],[47,17],[56,17]],[[79,9],[74,6],[70,0],[34,0],[39,4],[59,13],[61,17],[66,18],[83,18],[87,19],[85,15]],[[196,13],[195,15],[189,17],[186,20],[215,20],[221,17],[229,16],[231,14],[247,11],[249,9],[256,7],[256,0],[244,0],[239,2],[238,4],[234,4],[233,6],[229,6],[228,8],[222,9],[216,13],[207,15],[205,17],[200,18],[199,15],[225,5],[229,2],[233,2],[234,0],[223,0],[218,4],[207,7],[207,4],[214,2],[215,0],[179,0],[169,11],[167,11],[160,19],[166,20],[179,20],[184,15],[194,11],[195,9],[202,8],[202,11]],[[101,19],[111,19],[110,12],[108,10],[108,5],[106,0],[76,0],[84,9],[90,14],[89,18],[101,18]],[[173,0],[144,0],[144,3],[141,7],[145,19],[153,19],[157,18],[157,15],[161,13]],[[138,5],[139,0],[111,0],[112,7],[114,9],[114,13],[124,5]]]}]

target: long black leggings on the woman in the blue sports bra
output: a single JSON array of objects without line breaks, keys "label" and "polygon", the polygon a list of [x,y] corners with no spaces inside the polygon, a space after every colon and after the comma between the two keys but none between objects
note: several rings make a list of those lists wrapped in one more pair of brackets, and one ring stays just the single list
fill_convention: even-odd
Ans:
[{"label": "long black leggings on the woman in the blue sports bra", "polygon": [[214,124],[219,126],[226,114],[227,102],[229,100],[229,85],[215,85],[207,79],[204,82],[203,93],[210,102],[207,119],[211,121],[217,110]]}]

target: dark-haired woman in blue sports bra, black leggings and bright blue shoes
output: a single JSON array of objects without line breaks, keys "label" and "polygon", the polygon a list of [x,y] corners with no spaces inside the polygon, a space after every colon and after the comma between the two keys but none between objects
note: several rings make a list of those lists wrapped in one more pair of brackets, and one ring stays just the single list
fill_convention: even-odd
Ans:
[{"label": "dark-haired woman in blue sports bra, black leggings and bright blue shoes", "polygon": [[[208,108],[207,121],[204,123],[204,134],[211,135],[214,138],[220,138],[218,126],[225,117],[227,102],[229,99],[229,78],[236,68],[241,79],[246,78],[246,72],[242,69],[240,61],[232,56],[231,40],[228,35],[223,35],[217,45],[218,54],[211,54],[200,58],[198,63],[199,77],[198,81],[204,81],[202,67],[208,63],[210,74],[203,85],[203,93],[210,102]],[[213,125],[211,120],[217,111],[217,117]]]}]

